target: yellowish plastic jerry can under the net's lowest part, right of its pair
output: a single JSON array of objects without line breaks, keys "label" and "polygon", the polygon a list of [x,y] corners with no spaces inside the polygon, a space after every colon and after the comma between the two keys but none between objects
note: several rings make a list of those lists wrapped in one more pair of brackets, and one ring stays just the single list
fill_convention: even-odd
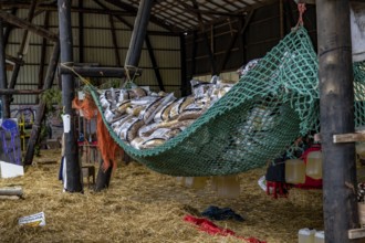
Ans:
[{"label": "yellowish plastic jerry can under the net's lowest part, right of its pair", "polygon": [[240,194],[240,181],[237,175],[213,177],[212,187],[220,198],[237,198]]}]

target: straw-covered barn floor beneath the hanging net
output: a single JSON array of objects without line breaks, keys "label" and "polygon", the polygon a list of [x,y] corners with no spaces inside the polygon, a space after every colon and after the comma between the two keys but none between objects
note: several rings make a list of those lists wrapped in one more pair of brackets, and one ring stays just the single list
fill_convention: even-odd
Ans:
[{"label": "straw-covered barn floor beneath the hanging net", "polygon": [[[95,193],[62,192],[59,150],[42,150],[25,176],[0,179],[0,187],[21,186],[22,200],[0,199],[0,242],[247,242],[255,237],[268,243],[295,243],[298,230],[323,230],[322,193],[291,189],[289,198],[273,199],[258,186],[265,169],[239,175],[241,191],[222,199],[206,189],[196,191],[174,177],[146,169],[136,162],[119,165],[108,190]],[[213,221],[237,236],[215,236],[184,221],[209,205],[228,207],[244,218]],[[18,219],[44,212],[45,226],[19,226]]]}]

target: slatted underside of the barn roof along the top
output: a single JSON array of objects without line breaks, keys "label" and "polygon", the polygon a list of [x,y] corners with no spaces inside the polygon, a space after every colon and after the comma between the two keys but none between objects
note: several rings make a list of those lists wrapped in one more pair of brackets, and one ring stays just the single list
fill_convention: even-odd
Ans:
[{"label": "slatted underside of the barn roof along the top", "polygon": [[[155,0],[150,22],[169,32],[204,30],[212,23],[231,18],[243,18],[253,9],[278,0]],[[2,9],[28,9],[31,0],[3,0]],[[36,10],[56,11],[56,0],[38,0]],[[73,1],[72,11],[84,13],[104,12],[113,15],[133,17],[137,14],[139,0],[86,0]]]}]

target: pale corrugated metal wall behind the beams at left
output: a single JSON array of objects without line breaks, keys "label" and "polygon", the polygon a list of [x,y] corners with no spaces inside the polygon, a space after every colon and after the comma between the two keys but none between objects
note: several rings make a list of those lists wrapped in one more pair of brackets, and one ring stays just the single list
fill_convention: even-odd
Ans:
[{"label": "pale corrugated metal wall behind the beams at left", "polygon": [[[73,1],[73,6],[77,6],[79,1]],[[100,8],[94,1],[83,1],[85,8]],[[27,19],[28,10],[19,10],[17,17]],[[115,59],[115,47],[112,41],[112,28],[109,17],[107,14],[96,13],[83,13],[83,62],[84,63],[98,63],[102,66],[117,66]],[[36,15],[32,23],[38,25],[44,25],[45,13]],[[72,28],[73,28],[73,44],[74,44],[74,62],[80,62],[80,31],[79,31],[79,18],[80,13],[72,12]],[[121,56],[122,66],[124,64],[125,56],[129,46],[129,40],[132,30],[116,18],[114,19],[115,33],[117,39],[117,52]],[[124,18],[132,25],[134,24],[133,17]],[[50,12],[49,30],[58,33],[59,17],[56,11]],[[157,62],[165,89],[167,92],[175,92],[176,96],[180,96],[180,39],[178,35],[157,35],[154,31],[166,31],[163,28],[149,23],[148,31],[153,52]],[[13,29],[10,34],[9,42],[6,49],[6,53],[12,56],[18,56],[18,51],[23,36],[23,30]],[[39,72],[40,61],[42,53],[42,41],[43,39],[31,33],[29,49],[27,55],[24,55],[25,65],[21,67],[18,80],[17,89],[36,89],[39,85]],[[45,66],[49,63],[49,59],[52,54],[53,43],[48,41],[46,53],[45,53]],[[158,83],[152,66],[150,56],[147,47],[144,45],[139,67],[143,68],[143,75],[136,83],[138,85],[148,85],[152,89],[158,91]],[[11,71],[7,72],[8,81],[11,78]],[[105,80],[104,80],[105,81]],[[58,82],[58,81],[56,81]],[[58,85],[56,83],[54,85]],[[35,95],[14,95],[13,105],[31,105],[35,104]]]}]

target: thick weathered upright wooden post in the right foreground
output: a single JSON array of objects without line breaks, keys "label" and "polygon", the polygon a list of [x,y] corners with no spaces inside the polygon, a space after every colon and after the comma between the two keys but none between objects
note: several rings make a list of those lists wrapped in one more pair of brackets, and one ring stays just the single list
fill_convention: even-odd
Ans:
[{"label": "thick weathered upright wooden post in the right foreground", "polygon": [[334,144],[334,134],[354,133],[354,88],[348,0],[316,2],[323,149],[325,242],[346,243],[358,226],[354,142]]}]

